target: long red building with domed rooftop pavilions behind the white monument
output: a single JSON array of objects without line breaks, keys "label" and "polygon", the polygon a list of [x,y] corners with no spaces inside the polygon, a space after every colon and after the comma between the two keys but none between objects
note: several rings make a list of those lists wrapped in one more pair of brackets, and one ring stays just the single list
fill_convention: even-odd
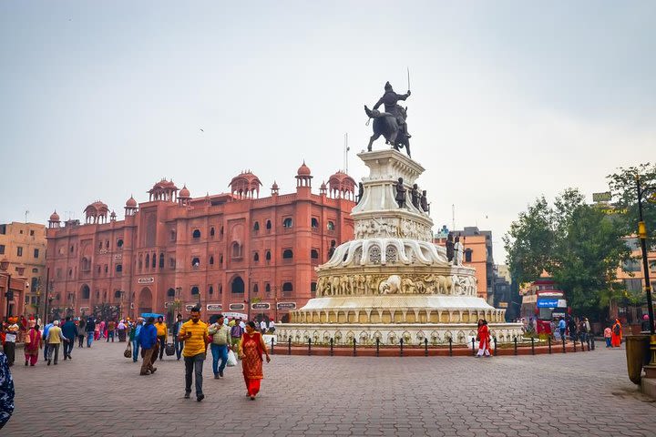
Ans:
[{"label": "long red building with domed rooftop pavilions behind the white monument", "polygon": [[[260,198],[250,171],[231,192],[192,198],[186,187],[161,180],[149,200],[130,197],[125,219],[102,202],[85,208],[85,224],[48,222],[50,306],[55,312],[218,312],[286,320],[313,297],[314,267],[335,245],[353,239],[355,182],[337,172],[312,193],[305,163],[296,191]],[[250,303],[250,305],[249,305]],[[249,310],[250,309],[250,310]],[[52,311],[49,311],[52,312]],[[107,313],[107,312],[106,312]]]}]

